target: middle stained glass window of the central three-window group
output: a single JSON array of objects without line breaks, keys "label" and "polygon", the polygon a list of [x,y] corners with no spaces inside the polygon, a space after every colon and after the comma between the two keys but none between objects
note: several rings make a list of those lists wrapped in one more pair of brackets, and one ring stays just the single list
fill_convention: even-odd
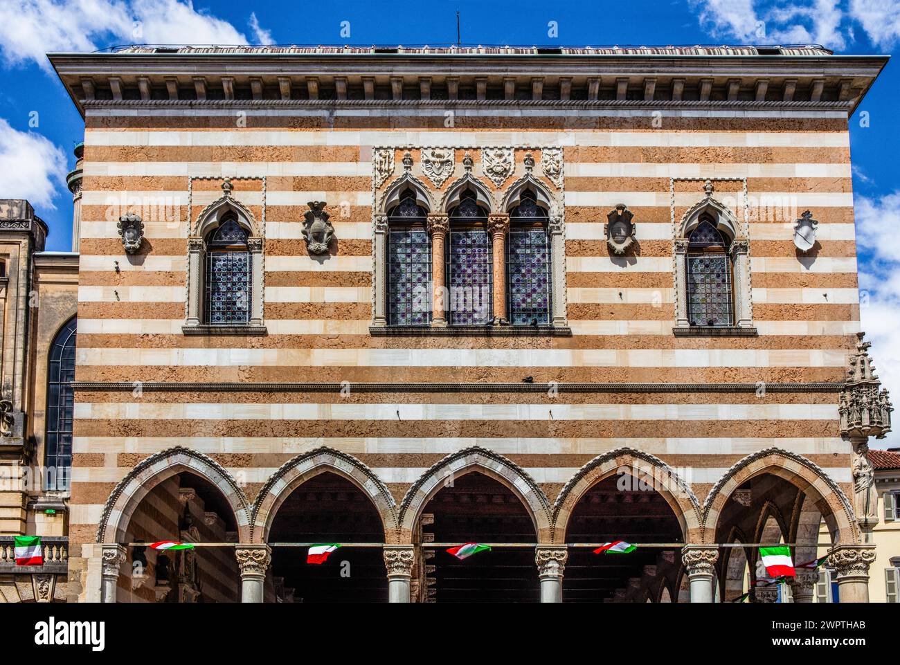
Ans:
[{"label": "middle stained glass window of the central three-window group", "polygon": [[487,215],[465,192],[450,214],[447,286],[451,326],[483,326],[491,322],[491,236]]}]

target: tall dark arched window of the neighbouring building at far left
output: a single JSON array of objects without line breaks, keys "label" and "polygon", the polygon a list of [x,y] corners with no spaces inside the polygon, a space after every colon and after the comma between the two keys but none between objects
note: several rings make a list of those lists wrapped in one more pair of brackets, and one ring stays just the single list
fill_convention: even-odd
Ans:
[{"label": "tall dark arched window of the neighbouring building at far left", "polygon": [[47,428],[44,465],[48,490],[66,490],[72,468],[72,412],[75,406],[76,319],[69,319],[53,338],[47,378]]}]

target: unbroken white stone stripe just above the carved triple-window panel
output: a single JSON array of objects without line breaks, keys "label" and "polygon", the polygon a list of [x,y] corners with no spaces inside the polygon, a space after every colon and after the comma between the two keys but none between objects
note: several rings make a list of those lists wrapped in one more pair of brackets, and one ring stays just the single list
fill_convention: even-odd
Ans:
[{"label": "unbroken white stone stripe just above the carved triple-window panel", "polygon": [[[389,113],[393,114],[393,113]],[[417,114],[419,114],[417,112]],[[507,116],[510,112],[498,113]],[[644,112],[644,115],[646,113]],[[581,112],[578,113],[581,115]],[[849,148],[847,131],[85,130],[88,146],[522,145]]]}]

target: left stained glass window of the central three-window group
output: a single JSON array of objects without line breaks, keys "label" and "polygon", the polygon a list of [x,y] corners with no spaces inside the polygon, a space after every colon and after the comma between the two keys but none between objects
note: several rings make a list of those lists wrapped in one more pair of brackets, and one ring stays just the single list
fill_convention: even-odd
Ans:
[{"label": "left stained glass window of the central three-window group", "polygon": [[431,321],[431,238],[426,211],[410,194],[401,199],[388,221],[388,323],[427,326]]}]

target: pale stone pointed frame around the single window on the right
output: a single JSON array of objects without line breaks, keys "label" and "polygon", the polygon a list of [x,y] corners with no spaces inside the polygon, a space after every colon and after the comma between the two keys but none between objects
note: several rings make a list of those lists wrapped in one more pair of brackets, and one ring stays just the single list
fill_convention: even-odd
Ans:
[{"label": "pale stone pointed frame around the single window on the right", "polygon": [[[730,326],[691,325],[688,306],[688,268],[690,236],[701,221],[709,220],[723,236],[731,262],[733,292],[733,324]],[[725,205],[712,197],[709,188],[706,198],[695,204],[681,218],[674,242],[675,254],[675,335],[756,335],[753,328],[750,288],[750,241],[743,225]]]}]

